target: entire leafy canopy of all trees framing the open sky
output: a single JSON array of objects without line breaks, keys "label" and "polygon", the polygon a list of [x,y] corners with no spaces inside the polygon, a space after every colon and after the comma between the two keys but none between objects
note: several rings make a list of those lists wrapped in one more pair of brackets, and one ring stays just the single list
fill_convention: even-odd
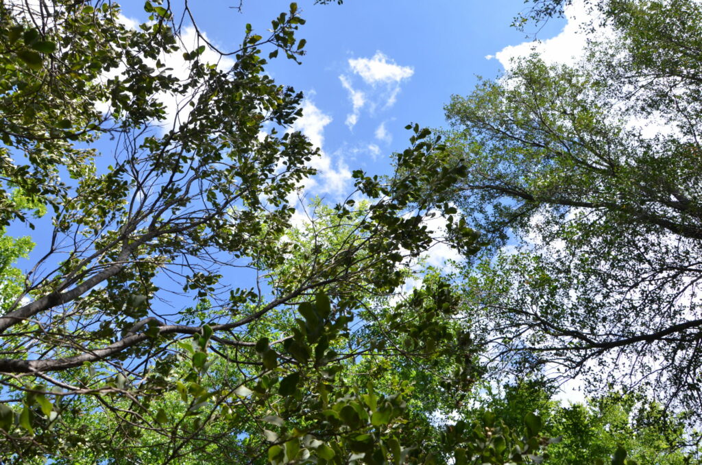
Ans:
[{"label": "entire leafy canopy of all trees framing the open sky", "polygon": [[699,463],[701,6],[590,6],[328,202],[298,4],[2,1],[0,461]]}]

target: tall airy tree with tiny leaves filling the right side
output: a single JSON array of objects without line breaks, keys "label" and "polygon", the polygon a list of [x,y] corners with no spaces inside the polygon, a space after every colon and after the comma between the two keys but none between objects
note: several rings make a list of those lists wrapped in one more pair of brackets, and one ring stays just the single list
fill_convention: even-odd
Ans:
[{"label": "tall airy tree with tiny leaves filling the right side", "polygon": [[443,198],[497,254],[466,270],[468,306],[505,369],[700,412],[702,10],[603,8],[613,36],[578,67],[531,56],[446,107],[440,155],[467,173]]}]

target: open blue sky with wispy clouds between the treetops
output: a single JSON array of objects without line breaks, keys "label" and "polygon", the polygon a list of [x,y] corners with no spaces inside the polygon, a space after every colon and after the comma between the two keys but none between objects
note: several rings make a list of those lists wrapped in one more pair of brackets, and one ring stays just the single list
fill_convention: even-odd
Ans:
[{"label": "open blue sky with wispy clouds between the treetops", "polygon": [[[199,28],[229,50],[246,22],[262,32],[289,7],[289,1],[244,0],[239,13],[232,4],[238,1],[191,2]],[[122,6],[128,18],[145,19],[142,1]],[[524,11],[522,0],[346,0],[340,6],[301,0],[298,6],[307,20],[298,32],[307,39],[307,55],[302,65],[272,60],[268,72],[307,96],[296,129],[323,152],[308,192],[332,201],[350,192],[353,169],[388,171],[390,154],[406,148],[406,124],[442,126],[442,107],[453,93],[470,92],[476,75],[496,77],[503,66],[486,55],[525,41],[510,27]],[[538,37],[548,39],[562,25],[552,20]]]}]

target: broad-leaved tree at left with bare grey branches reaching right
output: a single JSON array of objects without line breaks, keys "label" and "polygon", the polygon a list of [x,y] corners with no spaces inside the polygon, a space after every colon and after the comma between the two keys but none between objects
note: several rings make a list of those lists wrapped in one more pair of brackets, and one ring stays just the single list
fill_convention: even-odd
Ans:
[{"label": "broad-leaved tree at left with bare grey branches reaching right", "polygon": [[[442,207],[417,186],[446,189],[460,173],[428,162],[437,138],[408,126],[395,176],[355,171],[352,196],[367,202],[319,206],[291,229],[286,199],[317,152],[288,131],[303,96],[265,65],[303,55],[296,4],[267,37],[247,25],[228,69],[208,63],[225,52],[201,35],[179,45],[168,3],[145,11],[131,29],[112,2],[0,4],[1,220],[27,221],[16,189],[48,207],[41,258],[0,315],[2,461],[432,463],[455,449],[457,463],[501,464],[538,453],[533,419],[523,434],[494,419],[494,430],[442,433],[423,421],[437,438],[425,444],[415,426],[426,412],[408,410],[423,367],[458,368],[460,386],[457,365],[472,357],[452,349],[462,330],[445,285],[390,301],[403,263],[432,243],[425,215]],[[168,67],[176,53],[185,75]],[[453,239],[475,241],[470,230]],[[9,247],[8,263],[22,253]],[[362,375],[394,358],[418,369],[379,388]]]}]

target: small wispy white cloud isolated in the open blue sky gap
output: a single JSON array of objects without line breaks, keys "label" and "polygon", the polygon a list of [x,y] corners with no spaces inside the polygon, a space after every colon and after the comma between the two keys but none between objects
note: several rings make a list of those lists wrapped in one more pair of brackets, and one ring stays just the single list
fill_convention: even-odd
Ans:
[{"label": "small wispy white cloud isolated in the open blue sky gap", "polygon": [[[349,93],[352,112],[347,114],[346,125],[353,129],[358,122],[361,110],[369,109],[371,114],[376,109],[388,109],[395,105],[400,84],[414,74],[411,66],[401,66],[387,55],[377,51],[371,58],[351,58],[348,60],[350,74],[341,74],[339,80]],[[353,82],[359,77],[358,85]],[[359,89],[365,86],[365,89]]]}]

